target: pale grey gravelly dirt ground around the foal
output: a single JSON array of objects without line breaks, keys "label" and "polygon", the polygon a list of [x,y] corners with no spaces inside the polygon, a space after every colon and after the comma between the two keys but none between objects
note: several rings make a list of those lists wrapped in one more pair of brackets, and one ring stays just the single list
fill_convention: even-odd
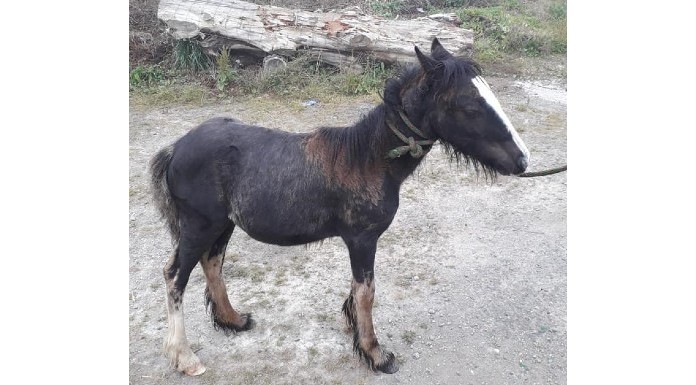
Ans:
[{"label": "pale grey gravelly dirt ground around the foal", "polygon": [[[488,77],[531,152],[530,171],[566,163],[565,81]],[[565,384],[567,173],[490,182],[439,145],[402,187],[376,256],[374,321],[400,362],[373,373],[351,351],[341,305],[350,290],[340,239],[266,245],[237,229],[224,274],[232,304],[256,328],[225,336],[193,271],[184,297],[189,341],[207,367],[168,367],[162,267],[170,238],[148,195],[147,162],[198,123],[232,116],[289,131],[352,124],[374,97],[225,100],[130,111],[130,384]]]}]

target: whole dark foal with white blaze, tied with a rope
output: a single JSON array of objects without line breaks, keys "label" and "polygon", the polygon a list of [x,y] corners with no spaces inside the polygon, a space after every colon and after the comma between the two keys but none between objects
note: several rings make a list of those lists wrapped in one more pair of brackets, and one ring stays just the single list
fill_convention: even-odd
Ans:
[{"label": "whole dark foal with white blaze, tied with a rope", "polygon": [[377,340],[372,307],[377,240],[399,208],[401,184],[437,141],[487,177],[519,175],[529,162],[476,62],[454,56],[437,38],[430,55],[414,49],[418,63],[388,79],[382,103],[352,126],[291,133],[218,117],[152,158],[154,201],[174,248],[163,269],[164,349],[178,371],[206,370],[184,328],[184,290],[197,264],[215,328],[229,334],[255,325],[251,313],[232,307],[222,277],[236,227],[282,246],[341,237],[352,272],[342,313],[353,350],[375,372],[399,369]]}]

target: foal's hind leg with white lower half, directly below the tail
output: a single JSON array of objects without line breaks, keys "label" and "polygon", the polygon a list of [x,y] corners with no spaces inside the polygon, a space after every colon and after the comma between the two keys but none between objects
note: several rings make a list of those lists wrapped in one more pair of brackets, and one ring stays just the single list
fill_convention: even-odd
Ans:
[{"label": "foal's hind leg with white lower half, directly below the tail", "polygon": [[186,338],[184,290],[191,271],[199,261],[207,258],[211,245],[222,233],[222,230],[216,229],[224,229],[224,227],[202,226],[195,222],[195,220],[182,218],[181,239],[171,259],[164,267],[169,326],[164,339],[164,350],[172,365],[190,376],[202,374],[205,372],[205,366],[193,353]]}]

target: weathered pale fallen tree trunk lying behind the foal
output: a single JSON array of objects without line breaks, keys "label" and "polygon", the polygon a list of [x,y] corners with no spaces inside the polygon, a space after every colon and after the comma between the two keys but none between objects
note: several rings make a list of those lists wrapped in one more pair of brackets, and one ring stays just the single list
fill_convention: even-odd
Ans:
[{"label": "weathered pale fallen tree trunk lying behind the foal", "polygon": [[[442,14],[412,20],[386,20],[359,8],[309,12],[238,0],[161,0],[157,17],[176,39],[196,39],[210,53],[226,47],[263,58],[292,57],[309,51],[336,66],[356,66],[363,56],[387,63],[416,61],[437,37],[455,54],[469,54],[473,32],[460,28],[456,16]],[[452,19],[454,17],[454,19]]]}]

